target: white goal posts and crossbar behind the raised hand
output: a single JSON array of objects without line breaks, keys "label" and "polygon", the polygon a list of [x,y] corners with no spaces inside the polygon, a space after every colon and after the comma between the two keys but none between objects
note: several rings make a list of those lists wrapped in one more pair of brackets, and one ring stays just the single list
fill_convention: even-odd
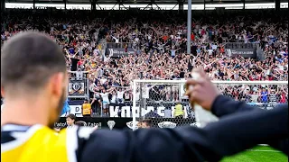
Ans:
[{"label": "white goal posts and crossbar behind the raised hand", "polygon": [[[136,84],[137,83],[154,83],[154,85],[163,85],[163,84],[185,84],[186,80],[140,80],[135,79],[133,81],[133,107],[132,107],[132,116],[133,116],[133,130],[136,130]],[[214,84],[223,84],[223,85],[288,85],[288,81],[212,81]]]}]

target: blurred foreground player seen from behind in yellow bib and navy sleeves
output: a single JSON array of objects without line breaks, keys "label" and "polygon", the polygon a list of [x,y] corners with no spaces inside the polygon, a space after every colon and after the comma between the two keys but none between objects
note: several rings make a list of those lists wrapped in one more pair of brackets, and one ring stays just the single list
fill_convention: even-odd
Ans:
[{"label": "blurred foreground player seen from behind in yellow bib and navy sleeves", "polygon": [[[203,129],[94,131],[75,126],[56,135],[52,129],[68,85],[65,58],[46,35],[22,32],[6,41],[1,54],[1,162],[219,161],[258,143],[277,148],[287,138],[287,108],[255,111],[209,91],[215,88],[210,80],[189,84],[196,86],[189,94],[192,102],[224,117]],[[201,88],[207,90],[200,94],[204,99],[195,96]]]}]

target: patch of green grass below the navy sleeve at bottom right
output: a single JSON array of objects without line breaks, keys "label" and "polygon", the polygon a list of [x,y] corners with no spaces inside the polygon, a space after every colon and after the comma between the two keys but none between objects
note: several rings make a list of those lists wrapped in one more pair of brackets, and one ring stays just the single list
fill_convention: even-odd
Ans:
[{"label": "patch of green grass below the navy sleeve at bottom right", "polygon": [[274,148],[258,146],[232,157],[225,157],[221,162],[288,162],[288,157]]}]

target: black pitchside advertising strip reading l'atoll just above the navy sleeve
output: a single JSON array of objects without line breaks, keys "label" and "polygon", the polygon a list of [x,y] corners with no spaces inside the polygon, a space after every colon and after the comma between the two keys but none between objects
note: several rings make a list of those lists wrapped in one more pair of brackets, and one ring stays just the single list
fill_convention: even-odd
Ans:
[{"label": "black pitchside advertising strip reading l'atoll just above the navy sleeve", "polygon": [[[174,118],[148,118],[152,120],[152,126],[155,128],[174,128],[177,126],[194,126],[195,122],[191,119],[174,119]],[[131,130],[133,129],[133,118],[92,118],[81,117],[76,121],[84,121],[85,126],[95,127],[98,129],[118,129],[118,130]],[[136,120],[137,122],[137,120]],[[54,127],[66,128],[66,118],[61,117],[60,121],[54,122]]]}]

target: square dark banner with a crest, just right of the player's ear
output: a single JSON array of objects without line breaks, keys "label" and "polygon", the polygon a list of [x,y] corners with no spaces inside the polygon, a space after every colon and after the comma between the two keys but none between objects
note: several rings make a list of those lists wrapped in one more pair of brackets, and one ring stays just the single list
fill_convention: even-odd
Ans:
[{"label": "square dark banner with a crest, just right of the player's ear", "polygon": [[85,96],[85,82],[86,80],[70,80],[69,83],[69,95],[73,96]]}]

